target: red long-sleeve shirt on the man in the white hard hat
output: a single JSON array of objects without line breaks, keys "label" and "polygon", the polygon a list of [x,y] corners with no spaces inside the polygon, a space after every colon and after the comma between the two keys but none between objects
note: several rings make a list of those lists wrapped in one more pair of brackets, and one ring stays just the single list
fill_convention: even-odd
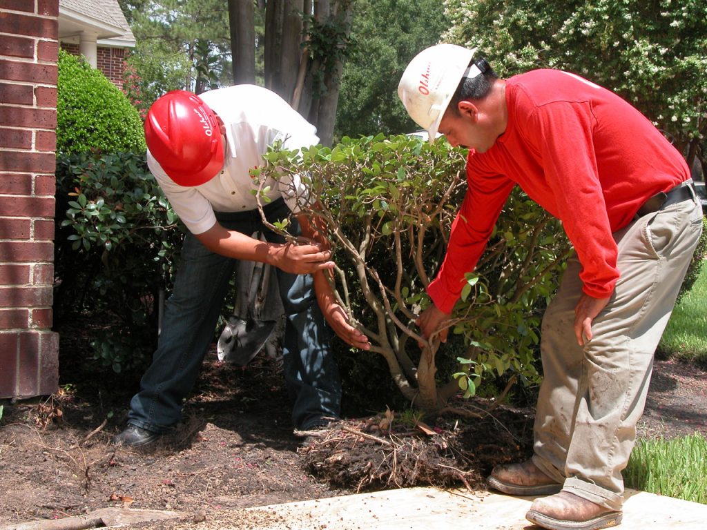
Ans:
[{"label": "red long-sleeve shirt on the man in the white hard hat", "polygon": [[579,76],[534,70],[506,81],[508,126],[486,153],[469,150],[467,194],[428,294],[450,313],[515,184],[562,220],[584,292],[607,298],[619,278],[612,232],[658,192],[689,178],[682,155],[643,114]]}]

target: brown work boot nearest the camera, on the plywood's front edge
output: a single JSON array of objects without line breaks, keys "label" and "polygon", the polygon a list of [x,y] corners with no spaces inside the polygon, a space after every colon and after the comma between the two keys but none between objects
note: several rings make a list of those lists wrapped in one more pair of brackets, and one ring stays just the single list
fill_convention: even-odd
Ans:
[{"label": "brown work boot nearest the camera, on the plywood's front edge", "polygon": [[599,530],[621,524],[621,512],[561,491],[535,499],[525,519],[550,530]]}]

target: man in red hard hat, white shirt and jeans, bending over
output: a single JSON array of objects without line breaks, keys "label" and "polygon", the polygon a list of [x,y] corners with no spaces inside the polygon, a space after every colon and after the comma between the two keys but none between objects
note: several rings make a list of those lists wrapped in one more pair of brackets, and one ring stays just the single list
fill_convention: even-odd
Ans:
[{"label": "man in red hard hat, white shirt and jeans, bending over", "polygon": [[[175,90],[151,107],[145,123],[148,167],[189,233],[158,348],[115,443],[151,444],[180,420],[214,337],[228,281],[242,259],[276,267],[287,317],[284,375],[294,426],[310,430],[339,415],[341,384],[325,318],[351,346],[368,349],[368,338],[349,324],[334,299],[325,278],[334,267],[331,252],[307,218],[291,211],[293,188],[271,185],[263,210],[270,223],[292,216],[291,233],[308,238],[299,245],[264,225],[249,175],[269,146],[315,145],[315,133],[278,95],[258,86],[199,96]],[[256,231],[267,241],[250,237]]]}]

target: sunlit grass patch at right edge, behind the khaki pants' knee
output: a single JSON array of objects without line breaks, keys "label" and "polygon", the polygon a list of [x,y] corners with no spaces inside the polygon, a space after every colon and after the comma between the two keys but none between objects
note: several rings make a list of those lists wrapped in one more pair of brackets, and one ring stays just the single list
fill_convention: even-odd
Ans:
[{"label": "sunlit grass patch at right edge, behind the khaki pants' knee", "polygon": [[675,306],[658,351],[667,358],[707,368],[707,266]]}]

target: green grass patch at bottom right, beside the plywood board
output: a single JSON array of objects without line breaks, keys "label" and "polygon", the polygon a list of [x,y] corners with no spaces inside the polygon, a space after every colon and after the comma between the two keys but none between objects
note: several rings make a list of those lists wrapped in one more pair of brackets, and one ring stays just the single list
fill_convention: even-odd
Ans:
[{"label": "green grass patch at bottom right, beside the plywood board", "polygon": [[624,471],[627,487],[707,504],[707,439],[638,440]]}]

